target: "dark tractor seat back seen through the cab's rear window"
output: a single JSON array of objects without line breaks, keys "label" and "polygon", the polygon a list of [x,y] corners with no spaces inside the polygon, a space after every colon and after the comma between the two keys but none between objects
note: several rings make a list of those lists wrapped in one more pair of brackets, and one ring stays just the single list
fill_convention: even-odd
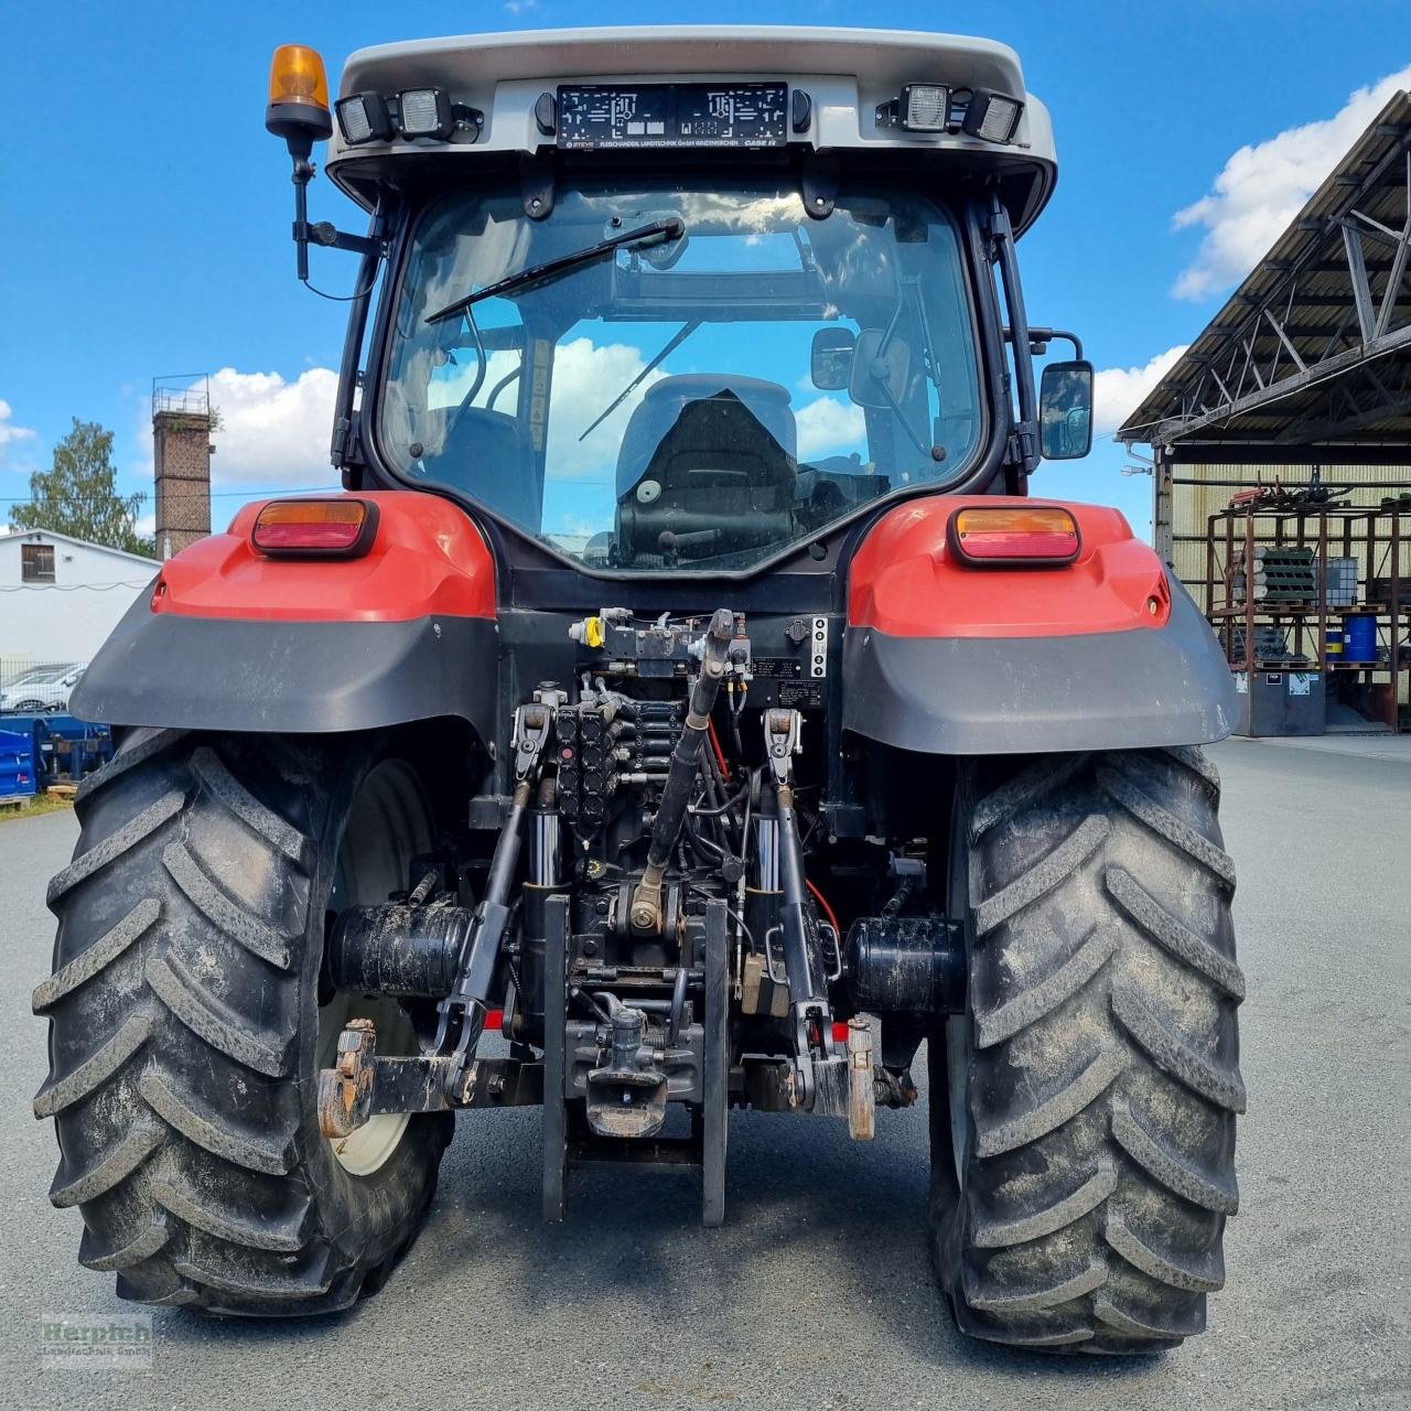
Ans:
[{"label": "dark tractor seat back seen through the cab's rear window", "polygon": [[789,389],[753,377],[663,377],[618,454],[618,543],[628,562],[715,557],[793,533],[799,464]]}]

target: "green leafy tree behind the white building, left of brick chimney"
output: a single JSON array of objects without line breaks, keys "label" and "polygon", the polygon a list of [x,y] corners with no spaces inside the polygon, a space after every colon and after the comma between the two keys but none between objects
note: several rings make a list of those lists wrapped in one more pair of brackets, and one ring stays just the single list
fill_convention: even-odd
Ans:
[{"label": "green leafy tree behind the white building, left of brick chimney", "polygon": [[30,476],[30,504],[16,505],[10,523],[16,529],[52,529],[155,557],[155,540],[137,532],[137,515],[145,499],[141,492],[117,492],[113,433],[75,416],[73,429],[54,447],[54,467]]}]

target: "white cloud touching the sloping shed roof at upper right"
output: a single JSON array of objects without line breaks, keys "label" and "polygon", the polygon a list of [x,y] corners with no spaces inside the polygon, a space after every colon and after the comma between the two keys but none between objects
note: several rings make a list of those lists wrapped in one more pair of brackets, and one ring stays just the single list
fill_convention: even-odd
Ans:
[{"label": "white cloud touching the sloping shed roof at upper right", "polygon": [[1175,213],[1177,230],[1204,227],[1205,238],[1171,292],[1178,299],[1204,299],[1249,274],[1391,95],[1404,87],[1411,87],[1411,66],[1357,89],[1332,117],[1285,128],[1235,152],[1211,192]]}]

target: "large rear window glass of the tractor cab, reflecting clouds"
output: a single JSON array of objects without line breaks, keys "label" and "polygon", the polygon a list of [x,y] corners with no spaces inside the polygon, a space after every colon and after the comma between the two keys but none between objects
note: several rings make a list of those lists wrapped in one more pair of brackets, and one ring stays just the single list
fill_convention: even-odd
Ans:
[{"label": "large rear window glass of the tractor cab, reflecting clouds", "polygon": [[[531,267],[655,227],[487,296]],[[380,439],[590,569],[742,570],[893,492],[959,478],[982,420],[951,217],[907,190],[811,220],[797,190],[454,193],[396,296]]]}]

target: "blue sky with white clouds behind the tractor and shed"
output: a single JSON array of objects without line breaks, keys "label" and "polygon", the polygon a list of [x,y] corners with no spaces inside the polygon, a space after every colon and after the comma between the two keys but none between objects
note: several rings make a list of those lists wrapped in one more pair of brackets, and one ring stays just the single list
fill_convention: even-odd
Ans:
[{"label": "blue sky with white clouds behind the tractor and shed", "polygon": [[[641,13],[602,0],[594,20],[631,24]],[[882,14],[861,0],[660,0],[652,10],[659,23],[727,24],[852,25]],[[123,488],[150,490],[151,378],[188,370],[229,370],[216,391],[227,420],[217,523],[253,488],[330,484],[327,370],[343,313],[292,277],[288,159],[262,127],[270,51],[312,44],[336,83],[343,56],[365,44],[581,18],[559,0],[435,17],[353,0],[8,7],[0,522],[71,416],[113,428]],[[1141,371],[1205,326],[1380,106],[1380,90],[1355,95],[1388,79],[1411,85],[1404,0],[895,0],[885,18],[1003,40],[1050,106],[1060,181],[1022,247],[1029,310],[1084,336],[1103,370],[1109,423],[1140,396]],[[357,226],[326,182],[312,203],[316,219]],[[347,257],[315,260],[317,282],[347,285]],[[1129,463],[1099,442],[1086,461],[1046,467],[1034,488],[1119,504],[1144,532],[1150,480],[1123,477]]]}]

